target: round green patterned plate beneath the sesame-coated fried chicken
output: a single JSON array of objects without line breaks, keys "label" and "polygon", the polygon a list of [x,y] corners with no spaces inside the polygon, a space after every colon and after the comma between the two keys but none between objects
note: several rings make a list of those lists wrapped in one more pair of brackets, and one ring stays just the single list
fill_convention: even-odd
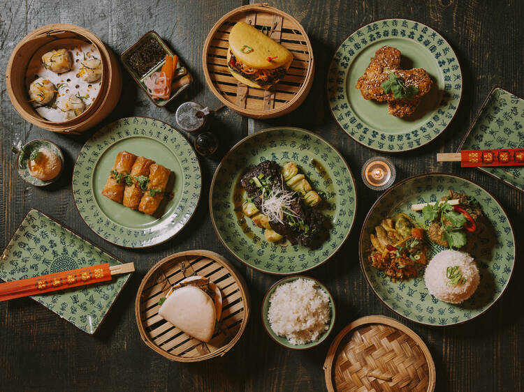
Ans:
[{"label": "round green patterned plate beneath the sesame-coated fried chicken", "polygon": [[[402,119],[388,114],[387,103],[365,100],[355,87],[384,45],[400,50],[401,68],[425,68],[434,82],[416,112]],[[456,114],[462,90],[462,70],[449,43],[413,20],[384,19],[361,27],[337,49],[328,73],[329,105],[337,123],[356,142],[392,153],[416,149],[442,133]]]}]

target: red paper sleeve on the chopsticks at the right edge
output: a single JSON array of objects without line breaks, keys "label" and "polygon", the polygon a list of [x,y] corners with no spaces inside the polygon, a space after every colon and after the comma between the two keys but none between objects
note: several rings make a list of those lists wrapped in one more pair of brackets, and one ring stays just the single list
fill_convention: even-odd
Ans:
[{"label": "red paper sleeve on the chopsticks at the right edge", "polygon": [[524,166],[524,149],[462,150],[460,166]]}]

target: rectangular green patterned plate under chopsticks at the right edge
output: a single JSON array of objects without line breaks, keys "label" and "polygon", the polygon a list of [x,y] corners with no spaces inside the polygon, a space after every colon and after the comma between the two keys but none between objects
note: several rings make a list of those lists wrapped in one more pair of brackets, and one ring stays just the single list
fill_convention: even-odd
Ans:
[{"label": "rectangular green patterned plate under chopsticks at the right edge", "polygon": [[[460,149],[524,148],[524,99],[494,87],[476,115]],[[524,191],[524,167],[477,167]]]}]

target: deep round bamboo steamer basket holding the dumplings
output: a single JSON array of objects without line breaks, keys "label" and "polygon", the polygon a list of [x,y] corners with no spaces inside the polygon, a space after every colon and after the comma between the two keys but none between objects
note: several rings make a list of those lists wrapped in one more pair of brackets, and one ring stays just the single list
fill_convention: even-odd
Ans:
[{"label": "deep round bamboo steamer basket holding the dumplings", "polygon": [[[54,123],[41,117],[29,103],[25,73],[29,60],[40,47],[68,38],[85,40],[99,51],[103,70],[101,88],[92,105],[80,116]],[[78,134],[101,122],[115,108],[122,91],[122,73],[115,54],[94,33],[74,24],[49,24],[32,31],[16,45],[6,68],[6,86],[11,103],[22,118],[52,132]]]}]

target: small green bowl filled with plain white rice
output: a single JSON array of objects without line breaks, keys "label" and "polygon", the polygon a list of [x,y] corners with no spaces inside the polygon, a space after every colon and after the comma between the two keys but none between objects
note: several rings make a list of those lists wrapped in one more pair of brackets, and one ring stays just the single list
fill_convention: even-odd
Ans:
[{"label": "small green bowl filled with plain white rice", "polygon": [[262,301],[262,323],[272,340],[289,349],[309,349],[335,324],[333,296],[321,282],[293,275],[272,285]]}]

